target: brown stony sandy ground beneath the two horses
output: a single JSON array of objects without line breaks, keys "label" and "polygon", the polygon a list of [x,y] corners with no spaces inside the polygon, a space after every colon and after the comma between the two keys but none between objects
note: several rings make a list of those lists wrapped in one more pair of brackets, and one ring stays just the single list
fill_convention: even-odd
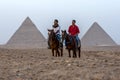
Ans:
[{"label": "brown stony sandy ground beneath the two horses", "polygon": [[48,49],[0,49],[0,80],[120,80],[120,52],[52,57]]}]

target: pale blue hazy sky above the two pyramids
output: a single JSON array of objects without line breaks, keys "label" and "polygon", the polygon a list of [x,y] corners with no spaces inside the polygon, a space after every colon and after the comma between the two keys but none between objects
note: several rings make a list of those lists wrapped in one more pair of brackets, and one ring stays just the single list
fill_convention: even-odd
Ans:
[{"label": "pale blue hazy sky above the two pyramids", "polygon": [[120,44],[120,0],[0,0],[0,44],[5,44],[29,16],[47,38],[54,19],[68,29],[75,19],[80,38],[93,22]]}]

